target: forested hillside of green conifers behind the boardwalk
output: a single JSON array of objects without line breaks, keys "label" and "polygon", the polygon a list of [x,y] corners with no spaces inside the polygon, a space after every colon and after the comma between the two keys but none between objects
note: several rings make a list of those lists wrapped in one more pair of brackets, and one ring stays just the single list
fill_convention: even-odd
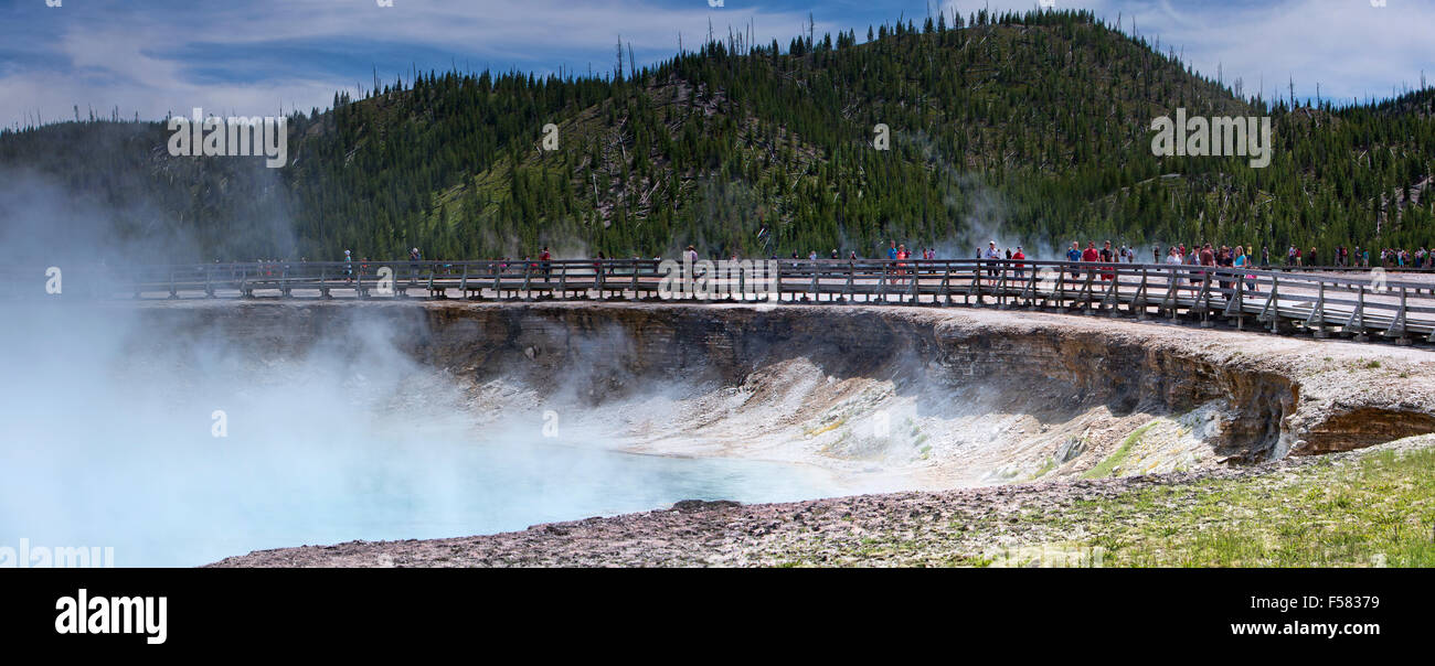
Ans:
[{"label": "forested hillside of green conifers behind the boardwalk", "polygon": [[[1340,107],[1247,100],[1240,82],[1161,49],[1085,11],[940,17],[861,42],[730,34],[636,72],[620,46],[601,77],[422,73],[337,95],[290,117],[283,169],[171,158],[164,123],[113,120],[0,133],[0,169],[66,192],[44,228],[56,238],[100,216],[113,238],[177,239],[146,245],[146,261],[415,245],[428,258],[689,243],[870,256],[888,238],[966,255],[987,236],[1435,243],[1435,90]],[[1270,165],[1154,156],[1151,120],[1177,107],[1271,116]],[[874,148],[878,123],[888,150]],[[33,218],[10,192],[0,223]]]}]

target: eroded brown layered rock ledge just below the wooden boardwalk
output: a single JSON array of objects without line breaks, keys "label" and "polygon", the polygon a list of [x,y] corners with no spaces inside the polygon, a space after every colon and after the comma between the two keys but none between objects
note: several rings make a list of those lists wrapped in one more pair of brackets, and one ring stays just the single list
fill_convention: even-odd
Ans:
[{"label": "eroded brown layered rock ledge just below the wooden boardwalk", "polygon": [[[291,354],[383,324],[413,358],[475,381],[577,381],[604,401],[650,380],[738,385],[802,358],[834,378],[920,377],[1032,411],[1220,404],[1225,460],[1435,431],[1435,352],[1022,311],[672,304],[175,302],[146,317]],[[182,344],[165,341],[164,344]]]}]

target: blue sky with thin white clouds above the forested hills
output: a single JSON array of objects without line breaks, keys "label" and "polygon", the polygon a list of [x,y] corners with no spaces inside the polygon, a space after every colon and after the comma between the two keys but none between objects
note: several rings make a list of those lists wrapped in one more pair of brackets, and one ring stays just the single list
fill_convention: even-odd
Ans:
[{"label": "blue sky with thin white clouds above the forested hills", "polygon": [[[0,0],[0,125],[36,115],[73,119],[73,106],[122,117],[166,112],[274,115],[327,107],[336,90],[419,69],[613,67],[618,34],[643,63],[752,23],[784,46],[804,30],[855,29],[928,7],[969,14],[982,6],[1030,9],[1036,0]],[[1198,70],[1267,96],[1389,97],[1435,82],[1435,0],[1055,0],[1083,7],[1182,50]],[[408,74],[405,74],[408,79]]]}]

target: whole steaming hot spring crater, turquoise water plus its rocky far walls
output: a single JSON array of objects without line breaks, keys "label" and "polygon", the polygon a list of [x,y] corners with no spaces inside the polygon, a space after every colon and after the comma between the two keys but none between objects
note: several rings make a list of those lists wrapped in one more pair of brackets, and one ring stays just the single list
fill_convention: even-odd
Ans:
[{"label": "whole steaming hot spring crater, turquoise water plus its rocky far walls", "polygon": [[[1333,423],[1292,425],[1302,395],[1280,372],[970,312],[4,308],[0,546],[113,547],[116,566],[485,534],[690,498],[1190,470],[1320,448]],[[1380,421],[1379,438],[1428,427],[1401,423]],[[1332,437],[1368,444],[1349,428]]]}]

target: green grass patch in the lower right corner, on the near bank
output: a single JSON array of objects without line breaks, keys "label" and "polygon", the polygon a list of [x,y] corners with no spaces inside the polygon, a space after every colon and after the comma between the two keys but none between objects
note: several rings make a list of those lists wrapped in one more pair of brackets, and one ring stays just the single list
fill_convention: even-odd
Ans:
[{"label": "green grass patch in the lower right corner, on the near bank", "polygon": [[1435,450],[1078,503],[1104,566],[1432,567]]}]

